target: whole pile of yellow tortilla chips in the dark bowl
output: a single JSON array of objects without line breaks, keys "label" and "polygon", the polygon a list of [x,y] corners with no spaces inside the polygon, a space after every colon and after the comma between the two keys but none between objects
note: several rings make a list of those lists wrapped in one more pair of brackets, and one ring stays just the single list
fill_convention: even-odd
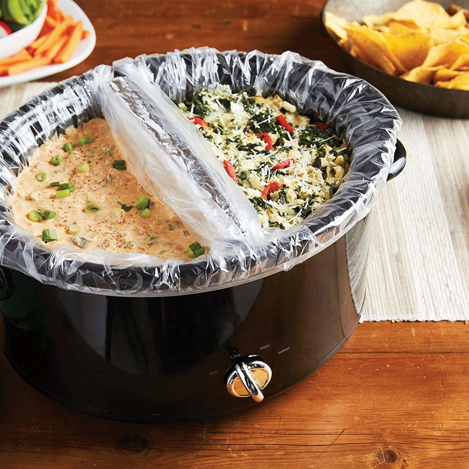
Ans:
[{"label": "whole pile of yellow tortilla chips in the dark bowl", "polygon": [[469,26],[463,10],[451,16],[439,3],[412,0],[394,12],[365,15],[363,23],[325,13],[331,34],[357,59],[408,81],[467,89]]}]

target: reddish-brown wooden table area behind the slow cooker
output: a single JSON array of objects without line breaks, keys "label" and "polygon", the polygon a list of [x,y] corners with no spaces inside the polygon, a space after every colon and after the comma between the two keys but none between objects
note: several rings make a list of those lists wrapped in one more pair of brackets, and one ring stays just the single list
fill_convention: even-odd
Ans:
[{"label": "reddish-brown wooden table area behind the slow cooker", "polygon": [[325,0],[76,0],[96,30],[96,47],[59,81],[122,57],[210,46],[221,51],[294,51],[343,68],[318,31]]}]

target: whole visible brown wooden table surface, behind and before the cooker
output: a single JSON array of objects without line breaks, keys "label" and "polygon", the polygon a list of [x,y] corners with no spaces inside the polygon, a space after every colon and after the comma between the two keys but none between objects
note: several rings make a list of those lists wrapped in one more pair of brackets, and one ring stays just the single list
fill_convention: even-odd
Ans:
[{"label": "whole visible brown wooden table surface, behind and before the cooker", "polygon": [[[210,45],[293,50],[342,65],[317,30],[323,0],[79,0],[91,56],[47,80],[124,56]],[[469,326],[364,323],[303,383],[230,416],[123,424],[62,408],[0,354],[0,468],[469,467]]]}]

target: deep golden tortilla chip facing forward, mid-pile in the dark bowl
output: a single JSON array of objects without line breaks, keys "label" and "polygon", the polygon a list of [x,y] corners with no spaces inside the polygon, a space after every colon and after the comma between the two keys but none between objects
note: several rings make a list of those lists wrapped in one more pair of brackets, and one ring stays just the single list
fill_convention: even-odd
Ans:
[{"label": "deep golden tortilla chip facing forward, mid-pile in the dark bowl", "polygon": [[391,51],[406,70],[424,63],[430,47],[431,37],[428,34],[415,32],[401,36],[382,34],[387,48]]}]

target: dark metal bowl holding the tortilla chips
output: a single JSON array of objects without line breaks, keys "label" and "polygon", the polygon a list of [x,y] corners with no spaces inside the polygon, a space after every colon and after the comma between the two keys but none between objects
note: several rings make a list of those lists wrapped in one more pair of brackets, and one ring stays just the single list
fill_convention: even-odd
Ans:
[{"label": "dark metal bowl holding the tortilla chips", "polygon": [[[325,36],[333,39],[325,27],[324,13],[326,11],[346,18],[348,21],[361,22],[364,15],[382,15],[389,11],[395,11],[408,1],[329,0],[321,12],[320,28]],[[451,3],[456,3],[462,8],[469,8],[469,0],[444,0],[435,3],[439,3],[445,8]],[[449,90],[438,86],[409,82],[398,76],[389,75],[357,59],[342,49],[334,39],[333,41],[351,73],[376,86],[394,105],[405,107],[411,111],[442,117],[469,118],[469,91]]]}]

